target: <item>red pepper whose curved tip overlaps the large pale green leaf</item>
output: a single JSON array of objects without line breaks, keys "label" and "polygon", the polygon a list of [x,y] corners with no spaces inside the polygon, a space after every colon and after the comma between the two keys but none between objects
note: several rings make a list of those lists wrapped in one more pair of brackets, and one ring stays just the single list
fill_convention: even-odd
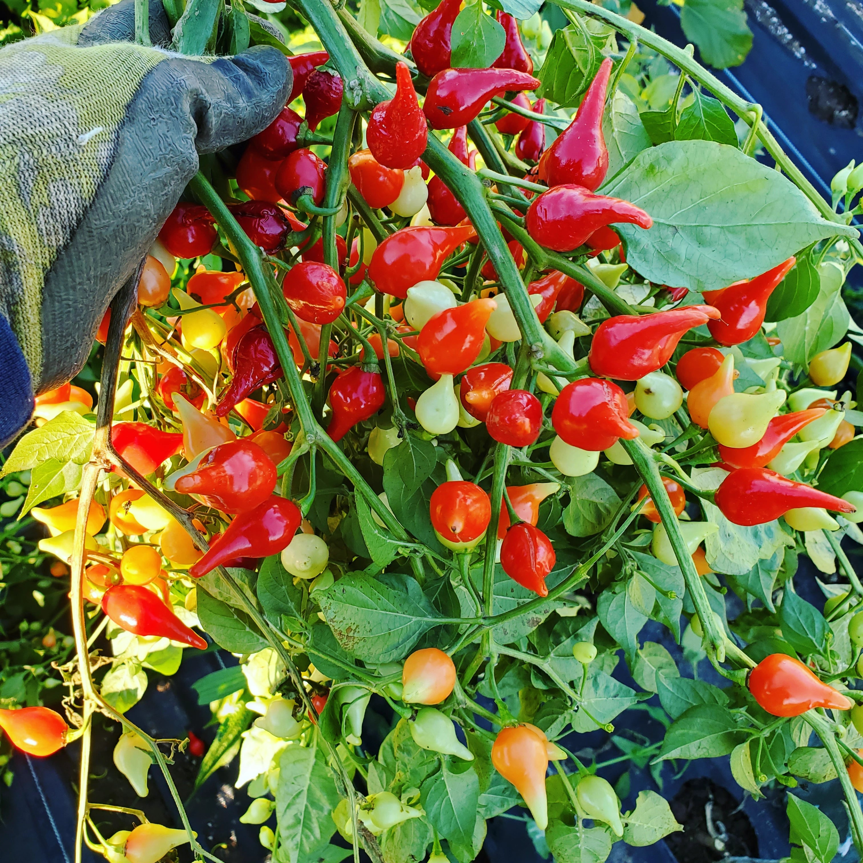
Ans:
[{"label": "red pepper whose curved tip overlaps the large pale green leaf", "polygon": [[[551,152],[551,151],[549,151]],[[620,198],[595,195],[582,186],[554,186],[527,208],[526,228],[532,238],[556,252],[571,252],[609,224],[637,224],[648,229],[647,213]]]}]

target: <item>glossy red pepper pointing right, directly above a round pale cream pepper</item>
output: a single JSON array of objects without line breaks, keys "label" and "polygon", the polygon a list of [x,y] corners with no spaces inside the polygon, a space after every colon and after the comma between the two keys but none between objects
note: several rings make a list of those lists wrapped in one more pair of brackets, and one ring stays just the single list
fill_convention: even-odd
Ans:
[{"label": "glossy red pepper pointing right, directly above a round pale cream pepper", "polygon": [[671,359],[686,332],[718,317],[713,306],[686,306],[652,315],[608,318],[596,328],[590,343],[590,368],[615,381],[638,381]]}]

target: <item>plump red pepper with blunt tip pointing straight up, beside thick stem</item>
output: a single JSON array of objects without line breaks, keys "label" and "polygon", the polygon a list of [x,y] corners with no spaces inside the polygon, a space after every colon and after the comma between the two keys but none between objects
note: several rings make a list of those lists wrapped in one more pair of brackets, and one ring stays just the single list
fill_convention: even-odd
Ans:
[{"label": "plump red pepper with blunt tip pointing straight up, beside thick stem", "polygon": [[375,105],[366,142],[384,167],[408,168],[425,152],[428,129],[406,63],[395,64],[395,96]]}]

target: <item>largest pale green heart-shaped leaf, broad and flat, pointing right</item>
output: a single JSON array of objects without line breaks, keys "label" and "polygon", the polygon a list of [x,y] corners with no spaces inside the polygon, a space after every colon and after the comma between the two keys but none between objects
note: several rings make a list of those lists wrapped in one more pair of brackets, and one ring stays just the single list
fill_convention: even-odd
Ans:
[{"label": "largest pale green heart-shaped leaf, broad and flat, pointing right", "polygon": [[856,236],[823,219],[783,174],[715,142],[644,150],[601,191],[653,219],[650,230],[616,226],[631,266],[658,284],[695,291],[764,273],[823,237]]}]

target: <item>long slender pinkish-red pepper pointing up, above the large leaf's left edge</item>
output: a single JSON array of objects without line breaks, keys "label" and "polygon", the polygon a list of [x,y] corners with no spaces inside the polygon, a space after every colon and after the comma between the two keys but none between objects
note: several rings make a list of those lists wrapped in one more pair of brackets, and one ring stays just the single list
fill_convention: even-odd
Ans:
[{"label": "long slender pinkish-red pepper pointing up, above the large leaf's left edge", "polygon": [[[549,186],[574,183],[594,192],[608,173],[608,149],[602,135],[602,110],[611,74],[611,59],[602,60],[572,123],[555,138],[539,161],[539,179]],[[608,224],[608,223],[604,223]],[[643,227],[650,227],[646,225]],[[581,245],[581,243],[578,243]],[[575,248],[575,247],[572,247]]]}]

